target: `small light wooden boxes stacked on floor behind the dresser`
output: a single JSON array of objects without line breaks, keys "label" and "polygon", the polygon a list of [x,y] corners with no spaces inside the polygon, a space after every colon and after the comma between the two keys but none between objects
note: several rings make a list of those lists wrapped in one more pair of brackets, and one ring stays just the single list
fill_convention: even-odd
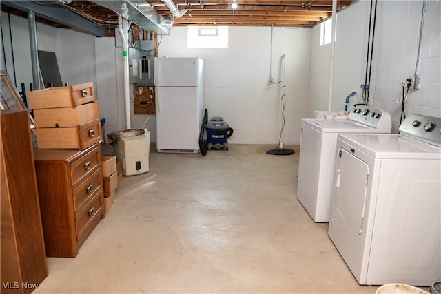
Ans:
[{"label": "small light wooden boxes stacked on floor behind the dresser", "polygon": [[116,187],[118,187],[118,171],[115,156],[102,156],[101,167],[103,169],[104,187],[104,209],[110,211],[110,207],[116,197]]}]

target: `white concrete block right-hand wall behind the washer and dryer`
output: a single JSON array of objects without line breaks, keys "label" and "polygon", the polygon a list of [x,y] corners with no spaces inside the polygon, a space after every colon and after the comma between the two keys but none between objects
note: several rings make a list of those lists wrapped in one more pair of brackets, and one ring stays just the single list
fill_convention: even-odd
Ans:
[{"label": "white concrete block right-hand wall behind the washer and dryer", "polygon": [[[441,117],[441,1],[425,1],[426,13],[422,32],[420,89],[409,90],[406,114]],[[420,39],[422,0],[377,1],[369,105],[387,110],[392,130],[398,132],[402,94],[399,83],[415,72]],[[344,107],[345,97],[355,91],[362,101],[360,85],[365,83],[367,36],[371,1],[359,1],[338,13],[332,110]],[[320,25],[311,38],[311,79],[307,115],[326,110],[329,97],[330,45],[319,44]],[[372,40],[371,40],[372,41]],[[369,66],[369,65],[368,65]],[[317,85],[320,85],[317,87]]]}]

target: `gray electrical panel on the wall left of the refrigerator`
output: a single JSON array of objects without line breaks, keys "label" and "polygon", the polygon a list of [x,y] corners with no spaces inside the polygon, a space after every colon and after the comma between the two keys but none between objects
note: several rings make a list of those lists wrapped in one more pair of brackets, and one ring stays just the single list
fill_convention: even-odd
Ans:
[{"label": "gray electrical panel on the wall left of the refrigerator", "polygon": [[137,40],[129,48],[129,82],[154,85],[154,41]]}]

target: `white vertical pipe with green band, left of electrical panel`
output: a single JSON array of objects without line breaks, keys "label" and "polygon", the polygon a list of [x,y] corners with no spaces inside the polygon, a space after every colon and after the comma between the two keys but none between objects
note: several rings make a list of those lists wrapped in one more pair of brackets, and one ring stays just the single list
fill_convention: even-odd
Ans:
[{"label": "white vertical pipe with green band, left of electrical panel", "polygon": [[128,21],[118,16],[118,30],[123,41],[123,74],[124,74],[124,105],[125,129],[130,129],[130,90],[129,90],[129,28]]}]

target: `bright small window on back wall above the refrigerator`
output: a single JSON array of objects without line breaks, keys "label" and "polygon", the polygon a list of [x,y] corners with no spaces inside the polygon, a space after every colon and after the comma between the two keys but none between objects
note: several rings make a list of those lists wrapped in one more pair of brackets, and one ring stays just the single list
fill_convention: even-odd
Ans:
[{"label": "bright small window on back wall above the refrigerator", "polygon": [[188,48],[229,48],[228,27],[187,27]]}]

